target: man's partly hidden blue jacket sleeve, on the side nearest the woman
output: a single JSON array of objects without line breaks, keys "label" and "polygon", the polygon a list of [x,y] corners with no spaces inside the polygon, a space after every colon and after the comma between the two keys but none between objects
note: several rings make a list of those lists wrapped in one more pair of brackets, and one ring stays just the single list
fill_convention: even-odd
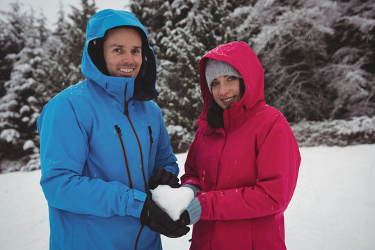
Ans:
[{"label": "man's partly hidden blue jacket sleeve, on the side nearest the woman", "polygon": [[154,171],[160,167],[164,167],[167,171],[172,172],[175,176],[178,176],[179,167],[177,165],[177,158],[172,151],[170,146],[170,139],[166,129],[166,124],[163,120],[163,115],[159,109],[159,121],[160,121],[160,131],[159,140],[157,144],[157,156],[155,158]]}]

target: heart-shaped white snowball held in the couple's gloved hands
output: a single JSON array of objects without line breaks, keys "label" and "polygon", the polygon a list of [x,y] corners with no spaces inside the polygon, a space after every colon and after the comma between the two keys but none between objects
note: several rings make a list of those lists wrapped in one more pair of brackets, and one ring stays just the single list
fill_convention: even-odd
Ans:
[{"label": "heart-shaped white snowball held in the couple's gloved hands", "polygon": [[194,192],[191,188],[170,188],[169,185],[158,185],[152,193],[152,201],[157,203],[162,210],[164,210],[170,218],[174,221],[179,219],[184,210],[189,206],[194,199]]}]

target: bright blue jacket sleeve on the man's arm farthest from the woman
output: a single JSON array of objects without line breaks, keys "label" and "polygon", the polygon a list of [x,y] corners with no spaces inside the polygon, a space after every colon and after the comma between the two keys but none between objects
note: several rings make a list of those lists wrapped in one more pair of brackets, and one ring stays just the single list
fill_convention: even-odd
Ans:
[{"label": "bright blue jacket sleeve on the man's arm farthest from the woman", "polygon": [[40,185],[50,206],[73,213],[140,217],[146,194],[118,181],[82,176],[88,135],[70,100],[55,97],[38,118]]}]

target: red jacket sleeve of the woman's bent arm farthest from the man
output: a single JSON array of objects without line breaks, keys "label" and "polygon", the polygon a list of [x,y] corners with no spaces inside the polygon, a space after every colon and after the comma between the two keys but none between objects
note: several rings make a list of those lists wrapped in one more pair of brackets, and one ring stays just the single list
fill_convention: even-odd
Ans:
[{"label": "red jacket sleeve of the woman's bent arm farthest from the man", "polygon": [[257,183],[198,195],[200,219],[252,219],[284,212],[296,188],[300,162],[292,130],[286,119],[279,117],[258,152]]}]

